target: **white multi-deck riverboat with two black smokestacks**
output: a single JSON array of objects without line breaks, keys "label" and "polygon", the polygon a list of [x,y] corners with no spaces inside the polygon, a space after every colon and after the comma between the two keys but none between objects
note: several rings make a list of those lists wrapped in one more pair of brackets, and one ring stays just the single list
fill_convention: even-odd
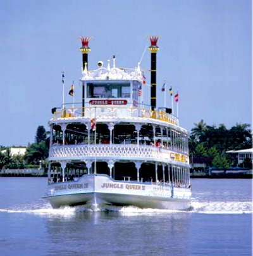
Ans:
[{"label": "white multi-deck riverboat with two black smokestacks", "polygon": [[[80,38],[82,106],[52,108],[49,121],[44,199],[53,208],[190,207],[188,133],[171,109],[156,106],[158,38],[149,37],[151,85],[145,84],[140,63],[133,69],[116,67],[115,56],[113,65],[99,61],[89,70],[90,37]],[[149,86],[146,105],[143,91]]]}]

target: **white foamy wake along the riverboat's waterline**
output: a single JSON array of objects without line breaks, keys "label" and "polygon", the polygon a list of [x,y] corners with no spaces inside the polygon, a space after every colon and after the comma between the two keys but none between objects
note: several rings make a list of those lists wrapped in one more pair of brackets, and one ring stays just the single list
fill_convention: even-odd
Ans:
[{"label": "white foamy wake along the riverboat's waterline", "polygon": [[45,205],[20,205],[13,208],[0,208],[0,212],[6,213],[26,213],[39,215],[60,215],[61,217],[71,217],[80,212],[118,212],[122,215],[149,215],[149,214],[253,214],[252,202],[192,202],[188,210],[163,210],[153,208],[138,207],[116,207],[104,206],[88,208],[85,205],[77,207],[61,207],[54,209],[49,203]]}]

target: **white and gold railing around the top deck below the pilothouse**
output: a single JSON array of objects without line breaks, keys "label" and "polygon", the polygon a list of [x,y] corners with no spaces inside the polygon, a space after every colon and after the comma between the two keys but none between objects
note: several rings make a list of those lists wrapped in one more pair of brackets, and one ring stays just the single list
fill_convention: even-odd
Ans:
[{"label": "white and gold railing around the top deck below the pilothouse", "polygon": [[54,112],[54,120],[61,118],[111,118],[111,117],[120,117],[120,118],[153,118],[156,120],[161,120],[169,122],[170,124],[179,125],[178,118],[174,115],[163,111],[147,110],[145,108],[130,108],[130,107],[121,107],[121,106],[92,106],[84,108],[83,115],[82,108],[64,108],[59,112]]}]

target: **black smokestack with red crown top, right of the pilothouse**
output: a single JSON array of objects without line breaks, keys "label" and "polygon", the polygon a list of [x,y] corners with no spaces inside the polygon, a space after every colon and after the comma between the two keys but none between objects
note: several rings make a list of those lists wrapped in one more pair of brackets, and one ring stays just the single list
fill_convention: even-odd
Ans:
[{"label": "black smokestack with red crown top, right of the pilothouse", "polygon": [[159,36],[149,35],[148,37],[151,41],[151,46],[149,46],[151,52],[151,108],[154,110],[156,108],[156,53],[159,51],[156,44]]}]

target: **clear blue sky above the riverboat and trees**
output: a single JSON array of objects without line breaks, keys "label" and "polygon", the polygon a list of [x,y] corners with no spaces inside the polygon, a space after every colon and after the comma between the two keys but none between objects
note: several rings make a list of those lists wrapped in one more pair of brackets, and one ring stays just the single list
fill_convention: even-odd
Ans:
[{"label": "clear blue sky above the riverboat and trees", "polygon": [[[63,101],[61,71],[65,101],[72,100],[72,80],[82,101],[80,35],[93,37],[90,69],[114,54],[118,66],[137,67],[147,35],[161,35],[157,105],[164,105],[166,79],[179,91],[180,124],[188,131],[201,119],[227,128],[251,124],[251,15],[249,0],[1,1],[0,145],[27,146],[39,125],[48,129],[51,108]],[[150,68],[149,51],[141,68]]]}]

